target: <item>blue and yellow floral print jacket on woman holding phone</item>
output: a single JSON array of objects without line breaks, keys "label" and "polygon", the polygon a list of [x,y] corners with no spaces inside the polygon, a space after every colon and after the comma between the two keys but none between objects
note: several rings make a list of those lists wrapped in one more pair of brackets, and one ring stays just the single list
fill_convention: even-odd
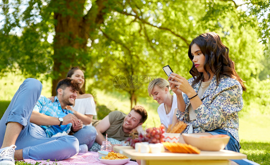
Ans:
[{"label": "blue and yellow floral print jacket on woman holding phone", "polygon": [[[192,84],[193,81],[193,78],[188,80],[189,84]],[[200,85],[201,81],[193,86],[196,92],[198,92]],[[181,112],[178,109],[177,119],[188,125],[185,133],[191,126],[193,133],[222,129],[231,133],[239,142],[237,113],[243,108],[242,93],[241,84],[236,79],[221,75],[219,84],[217,84],[216,76],[214,76],[209,88],[201,97],[203,104],[194,110],[197,120],[189,120],[187,107],[190,101],[186,94],[183,95],[186,110]]]}]

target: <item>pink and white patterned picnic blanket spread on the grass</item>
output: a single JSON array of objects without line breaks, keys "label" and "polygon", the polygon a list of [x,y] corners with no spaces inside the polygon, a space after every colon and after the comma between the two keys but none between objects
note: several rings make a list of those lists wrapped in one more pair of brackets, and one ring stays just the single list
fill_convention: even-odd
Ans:
[{"label": "pink and white patterned picnic blanket spread on the grass", "polygon": [[[33,159],[24,159],[24,162],[29,162],[31,164],[35,164],[36,162],[41,162],[41,164],[46,164],[50,165],[55,163],[55,161],[47,161],[47,160],[33,160]],[[65,159],[65,160],[60,160],[57,161],[57,164],[62,164],[62,165],[104,165],[102,162],[99,160],[99,156],[97,152],[86,152],[86,153],[78,153],[78,155],[73,156],[71,158]],[[138,165],[137,162],[134,161],[128,161],[125,165]]]}]

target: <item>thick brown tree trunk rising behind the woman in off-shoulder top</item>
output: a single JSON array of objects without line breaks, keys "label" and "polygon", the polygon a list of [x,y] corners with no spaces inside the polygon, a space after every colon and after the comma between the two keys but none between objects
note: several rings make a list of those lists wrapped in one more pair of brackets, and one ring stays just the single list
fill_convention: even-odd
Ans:
[{"label": "thick brown tree trunk rising behind the woman in off-shoulder top", "polygon": [[106,0],[97,0],[98,8],[92,9],[92,6],[86,15],[83,15],[85,0],[66,0],[65,3],[60,0],[54,3],[58,3],[58,6],[55,6],[57,11],[54,12],[56,35],[53,42],[53,96],[56,95],[58,81],[66,77],[71,67],[79,66],[84,69],[84,58],[89,53],[86,46],[89,34],[95,32],[96,26],[104,20],[104,1]]}]

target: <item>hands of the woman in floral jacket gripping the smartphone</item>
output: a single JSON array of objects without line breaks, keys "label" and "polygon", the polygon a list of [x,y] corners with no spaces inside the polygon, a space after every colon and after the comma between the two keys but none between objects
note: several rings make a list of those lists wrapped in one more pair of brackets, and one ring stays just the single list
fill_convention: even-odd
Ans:
[{"label": "hands of the woman in floral jacket gripping the smartphone", "polygon": [[170,80],[170,88],[174,93],[176,93],[176,95],[180,95],[182,94],[181,92],[184,92],[189,96],[192,95],[192,92],[193,93],[195,92],[192,86],[186,80],[186,78],[176,73],[171,73],[170,77],[168,78],[168,81],[169,80]]}]

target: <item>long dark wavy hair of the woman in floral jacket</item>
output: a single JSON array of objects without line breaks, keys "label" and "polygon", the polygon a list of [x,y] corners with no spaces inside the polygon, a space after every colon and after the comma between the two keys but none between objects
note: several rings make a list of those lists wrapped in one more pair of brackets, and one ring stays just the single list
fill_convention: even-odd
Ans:
[{"label": "long dark wavy hair of the woman in floral jacket", "polygon": [[[197,44],[201,49],[203,55],[205,56],[205,61],[203,68],[210,77],[210,72],[214,73],[219,83],[220,75],[225,75],[230,78],[234,78],[240,82],[243,91],[246,91],[244,81],[235,72],[235,64],[229,58],[229,48],[222,44],[218,34],[214,32],[208,32],[197,36],[189,45],[188,57],[193,60],[191,55],[191,46]],[[203,79],[203,73],[198,72],[194,62],[192,62],[192,67],[189,73],[192,75],[195,81],[193,81],[192,86]],[[196,78],[195,78],[196,77]]]}]

